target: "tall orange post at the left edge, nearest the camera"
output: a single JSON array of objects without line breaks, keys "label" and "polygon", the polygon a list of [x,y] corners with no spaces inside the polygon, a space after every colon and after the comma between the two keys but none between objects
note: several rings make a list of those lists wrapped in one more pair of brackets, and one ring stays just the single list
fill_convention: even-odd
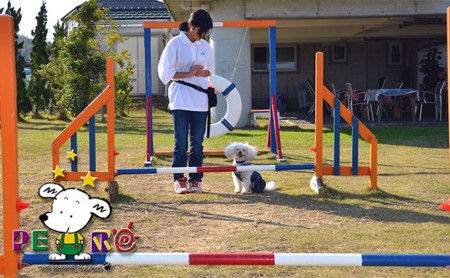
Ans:
[{"label": "tall orange post at the left edge, nearest the camera", "polygon": [[0,15],[0,122],[2,140],[3,254],[0,274],[19,275],[19,253],[13,251],[13,230],[19,229],[17,149],[17,86],[14,20]]}]

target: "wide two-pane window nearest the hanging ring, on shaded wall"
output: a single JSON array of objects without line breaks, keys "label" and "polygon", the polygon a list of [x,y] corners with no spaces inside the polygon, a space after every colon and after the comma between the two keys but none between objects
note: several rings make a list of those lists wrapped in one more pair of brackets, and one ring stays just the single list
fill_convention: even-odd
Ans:
[{"label": "wide two-pane window nearest the hanging ring, on shaded wall", "polygon": [[[277,47],[277,71],[297,71],[297,47],[285,45]],[[269,71],[269,47],[255,45],[252,47],[253,71]]]}]

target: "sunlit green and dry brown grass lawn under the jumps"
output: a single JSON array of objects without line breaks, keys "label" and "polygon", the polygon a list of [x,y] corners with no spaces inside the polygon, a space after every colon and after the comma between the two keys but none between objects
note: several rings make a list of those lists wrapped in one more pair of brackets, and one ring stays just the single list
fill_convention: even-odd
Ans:
[{"label": "sunlit green and dry brown grass lawn under the jumps", "polygon": [[[163,107],[161,105],[160,107]],[[207,139],[205,150],[223,150],[244,141],[265,150],[267,126],[237,129]],[[26,119],[19,123],[20,195],[31,204],[21,213],[21,228],[44,229],[38,216],[51,203],[37,195],[52,178],[51,142],[68,123]],[[450,197],[448,129],[436,126],[373,127],[378,146],[378,190],[369,190],[368,177],[325,176],[326,197],[309,188],[312,171],[263,172],[279,190],[241,196],[233,193],[230,173],[207,173],[204,194],[178,196],[171,175],[118,176],[120,195],[108,220],[94,219],[94,229],[119,229],[133,221],[137,252],[277,252],[277,253],[450,253],[450,214],[438,209]],[[106,129],[98,124],[97,168],[106,169]],[[351,163],[351,130],[343,128],[341,162]],[[134,108],[116,120],[117,168],[139,168],[146,159],[145,111]],[[171,151],[172,123],[164,109],[154,111],[156,152]],[[78,133],[79,168],[89,165],[88,133]],[[283,122],[281,142],[286,162],[314,163],[314,130]],[[61,150],[61,167],[69,143]],[[359,161],[367,165],[369,146],[359,143]],[[333,133],[324,130],[324,163],[333,163]],[[170,167],[171,158],[156,156],[155,167]],[[263,154],[255,164],[277,164]],[[223,157],[206,157],[205,165],[231,165]],[[82,188],[82,181],[64,186]],[[106,184],[83,189],[106,197]],[[1,213],[2,214],[2,213]],[[3,217],[3,214],[2,214]],[[1,235],[3,236],[3,235]],[[56,250],[50,232],[50,252]],[[111,243],[112,244],[112,243]],[[3,248],[3,247],[2,247]],[[90,251],[90,243],[85,247]],[[26,252],[31,245],[25,246]],[[112,246],[113,250],[116,250]],[[3,249],[2,249],[3,250]],[[448,277],[449,270],[395,267],[253,267],[253,266],[113,266],[90,269],[25,268],[23,277]]]}]

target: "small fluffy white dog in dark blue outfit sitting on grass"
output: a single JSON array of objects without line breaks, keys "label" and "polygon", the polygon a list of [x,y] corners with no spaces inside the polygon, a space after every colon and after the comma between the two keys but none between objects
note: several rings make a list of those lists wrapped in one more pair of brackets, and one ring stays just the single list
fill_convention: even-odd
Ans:
[{"label": "small fluffy white dog in dark blue outfit sitting on grass", "polygon": [[[233,166],[247,166],[250,161],[258,155],[256,147],[247,143],[234,142],[225,147],[225,156],[233,159]],[[273,181],[266,184],[261,175],[256,171],[237,171],[232,173],[234,182],[234,192],[263,193],[264,191],[274,191],[277,189]]]}]

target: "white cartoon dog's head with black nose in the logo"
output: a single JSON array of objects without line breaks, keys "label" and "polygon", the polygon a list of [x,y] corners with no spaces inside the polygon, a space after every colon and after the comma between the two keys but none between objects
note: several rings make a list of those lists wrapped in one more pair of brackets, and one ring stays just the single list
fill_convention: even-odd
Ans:
[{"label": "white cartoon dog's head with black nose in the logo", "polygon": [[108,218],[111,206],[101,198],[91,198],[86,192],[64,187],[57,183],[45,183],[39,188],[39,196],[52,198],[52,211],[39,216],[49,229],[59,233],[76,233],[91,221],[92,216]]}]

